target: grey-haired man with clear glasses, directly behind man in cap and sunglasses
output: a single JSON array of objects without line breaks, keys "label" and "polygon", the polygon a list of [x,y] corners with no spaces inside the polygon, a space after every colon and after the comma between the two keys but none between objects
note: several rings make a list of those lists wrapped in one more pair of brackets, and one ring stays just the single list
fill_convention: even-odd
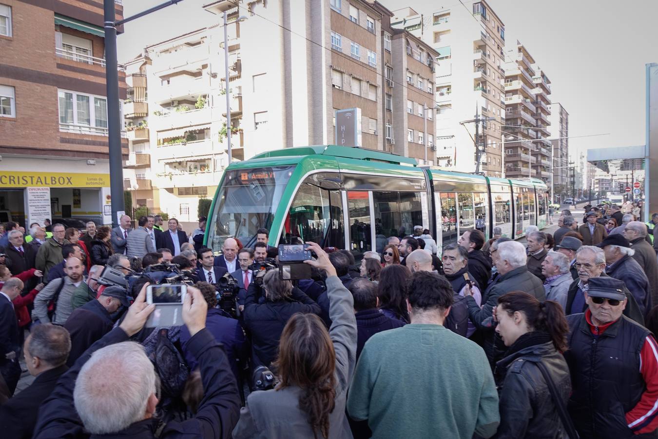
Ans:
[{"label": "grey-haired man with clear glasses, directly behind man in cap and sunglasses", "polygon": [[[583,245],[576,251],[576,263],[578,278],[569,287],[567,292],[567,306],[565,314],[584,313],[587,306],[587,292],[590,289],[590,280],[599,277],[609,277],[605,274],[605,253],[603,249],[594,245]],[[622,310],[624,315],[637,323],[644,324],[644,315],[640,311],[638,302],[630,294],[628,288],[622,283],[622,290],[626,294],[626,305]]]}]

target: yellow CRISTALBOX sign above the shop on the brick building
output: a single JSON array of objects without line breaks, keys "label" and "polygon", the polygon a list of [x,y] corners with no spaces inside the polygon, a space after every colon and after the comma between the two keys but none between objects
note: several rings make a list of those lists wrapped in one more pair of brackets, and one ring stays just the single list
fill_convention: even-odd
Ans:
[{"label": "yellow CRISTALBOX sign above the shop on the brick building", "polygon": [[0,188],[109,188],[110,174],[0,171]]}]

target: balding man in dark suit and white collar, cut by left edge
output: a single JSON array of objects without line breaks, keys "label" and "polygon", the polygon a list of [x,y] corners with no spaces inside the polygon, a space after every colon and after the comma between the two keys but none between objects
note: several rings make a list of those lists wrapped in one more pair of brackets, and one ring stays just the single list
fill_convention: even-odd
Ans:
[{"label": "balding man in dark suit and white collar, cut by left edge", "polygon": [[22,289],[22,280],[10,278],[0,290],[0,374],[5,378],[9,396],[14,394],[20,378],[20,365],[18,365],[20,337],[12,301],[18,297]]}]

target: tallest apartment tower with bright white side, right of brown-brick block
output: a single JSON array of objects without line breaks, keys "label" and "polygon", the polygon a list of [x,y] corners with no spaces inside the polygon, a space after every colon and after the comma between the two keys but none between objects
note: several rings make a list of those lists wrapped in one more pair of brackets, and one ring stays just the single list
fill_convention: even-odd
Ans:
[{"label": "tallest apartment tower with bright white side, right of brown-brick block", "polygon": [[[505,25],[484,1],[465,1],[431,14],[411,8],[394,13],[393,27],[409,30],[438,52],[434,72],[438,165],[474,172],[477,142],[482,152],[480,171],[501,176]],[[486,119],[479,122],[477,138],[476,118]]]}]

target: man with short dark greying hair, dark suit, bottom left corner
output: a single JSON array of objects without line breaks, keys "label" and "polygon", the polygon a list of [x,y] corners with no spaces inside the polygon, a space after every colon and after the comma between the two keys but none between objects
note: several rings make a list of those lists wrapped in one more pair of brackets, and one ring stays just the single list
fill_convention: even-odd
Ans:
[{"label": "man with short dark greying hair, dark suit, bottom left corner", "polygon": [[59,377],[66,372],[71,349],[68,331],[55,324],[32,326],[23,353],[28,371],[35,376],[32,385],[0,405],[0,425],[7,438],[32,438],[39,405],[50,396]]}]

